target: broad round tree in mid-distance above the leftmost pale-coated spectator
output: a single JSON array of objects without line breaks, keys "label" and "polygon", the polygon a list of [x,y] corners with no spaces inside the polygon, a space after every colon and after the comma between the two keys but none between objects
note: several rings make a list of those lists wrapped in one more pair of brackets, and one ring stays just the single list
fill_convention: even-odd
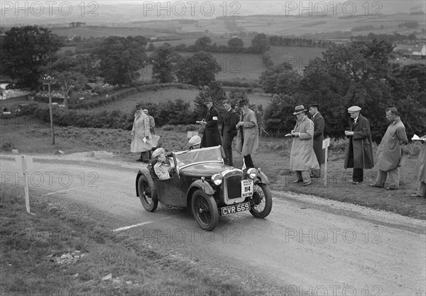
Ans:
[{"label": "broad round tree in mid-distance above the leftmost pale-coated spectator", "polygon": [[94,55],[99,59],[100,73],[109,84],[132,84],[145,66],[146,41],[142,38],[110,36]]}]

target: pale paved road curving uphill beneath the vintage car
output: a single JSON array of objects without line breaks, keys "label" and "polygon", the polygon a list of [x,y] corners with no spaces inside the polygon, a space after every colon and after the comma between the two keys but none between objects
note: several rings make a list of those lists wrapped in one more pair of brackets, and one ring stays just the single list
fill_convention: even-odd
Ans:
[{"label": "pale paved road curving uphill beneath the vintage car", "polygon": [[[1,185],[23,175],[1,156]],[[236,273],[263,275],[293,295],[425,295],[425,221],[290,192],[273,192],[267,219],[243,212],[198,229],[185,209],[146,212],[136,198],[137,165],[34,160],[30,194],[66,197],[111,216],[182,258]],[[114,219],[113,219],[114,218]]]}]

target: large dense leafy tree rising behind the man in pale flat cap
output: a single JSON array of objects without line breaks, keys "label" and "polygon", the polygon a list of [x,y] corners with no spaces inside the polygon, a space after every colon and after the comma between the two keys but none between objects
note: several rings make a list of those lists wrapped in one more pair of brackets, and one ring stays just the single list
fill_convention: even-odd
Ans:
[{"label": "large dense leafy tree rising behind the man in pale flat cap", "polygon": [[392,50],[386,40],[332,45],[305,67],[300,94],[327,110],[325,129],[330,136],[342,136],[342,126],[349,127],[346,109],[358,105],[370,121],[373,141],[380,141],[387,124],[378,114],[395,105],[388,62]]}]

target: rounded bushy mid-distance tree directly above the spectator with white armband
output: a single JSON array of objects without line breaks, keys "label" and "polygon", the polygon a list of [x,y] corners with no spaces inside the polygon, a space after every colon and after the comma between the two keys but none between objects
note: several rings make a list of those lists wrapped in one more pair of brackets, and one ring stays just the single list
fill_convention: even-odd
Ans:
[{"label": "rounded bushy mid-distance tree directly above the spectator with white armband", "polygon": [[199,51],[182,61],[176,73],[179,82],[204,86],[216,80],[215,75],[222,70],[211,53]]}]

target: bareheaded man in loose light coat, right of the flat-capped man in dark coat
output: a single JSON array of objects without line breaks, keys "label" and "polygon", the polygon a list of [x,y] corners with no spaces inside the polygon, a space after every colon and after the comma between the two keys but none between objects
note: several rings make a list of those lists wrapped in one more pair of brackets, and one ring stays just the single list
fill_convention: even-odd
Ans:
[{"label": "bareheaded man in loose light coat, right of the flat-capped man in dark coat", "polygon": [[387,189],[395,190],[399,187],[399,167],[403,155],[401,144],[408,144],[408,138],[403,121],[401,121],[395,107],[386,109],[386,119],[390,124],[380,146],[378,146],[378,174],[376,181],[370,186],[384,187],[386,177],[389,175],[390,184]]}]

